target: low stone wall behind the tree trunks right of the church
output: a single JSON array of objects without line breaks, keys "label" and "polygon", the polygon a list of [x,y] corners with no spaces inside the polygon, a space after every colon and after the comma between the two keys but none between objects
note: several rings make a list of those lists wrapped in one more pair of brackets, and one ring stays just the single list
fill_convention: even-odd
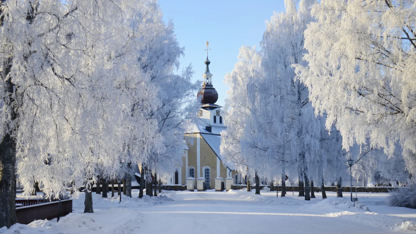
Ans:
[{"label": "low stone wall behind the tree trunks right of the church", "polygon": [[[270,185],[260,185],[260,189],[264,188],[265,186],[270,188]],[[238,190],[247,188],[247,185],[231,185],[231,189]],[[355,192],[356,187],[352,187],[352,192]],[[255,189],[255,185],[251,186],[251,189]],[[270,188],[270,191],[276,191],[278,189],[279,191],[282,190],[282,186],[273,186]],[[321,188],[314,187],[315,192],[320,192]],[[357,187],[357,192],[389,192],[389,190],[394,189],[394,187]],[[298,186],[286,186],[286,192],[299,192]],[[327,186],[325,187],[325,191],[327,192],[337,192],[336,186]],[[349,187],[343,186],[342,192],[349,192]]]}]

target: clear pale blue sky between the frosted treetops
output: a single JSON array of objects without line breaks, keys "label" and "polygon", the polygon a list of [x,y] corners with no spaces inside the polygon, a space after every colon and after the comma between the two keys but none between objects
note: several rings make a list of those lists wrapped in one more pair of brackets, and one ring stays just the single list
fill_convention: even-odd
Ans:
[{"label": "clear pale blue sky between the frosted treetops", "polygon": [[241,46],[255,45],[259,49],[265,20],[270,20],[273,11],[285,9],[283,0],[159,0],[159,4],[163,20],[173,21],[176,38],[181,46],[185,46],[179,72],[192,63],[193,79],[202,80],[208,38],[210,72],[219,96],[216,104],[221,106],[227,91],[223,79],[233,70],[238,50]]}]

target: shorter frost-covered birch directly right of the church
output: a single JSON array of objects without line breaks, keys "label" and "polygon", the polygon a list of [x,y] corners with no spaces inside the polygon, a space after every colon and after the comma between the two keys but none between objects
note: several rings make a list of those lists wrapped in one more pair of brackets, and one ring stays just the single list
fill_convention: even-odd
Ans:
[{"label": "shorter frost-covered birch directly right of the church", "polygon": [[224,79],[230,91],[225,100],[227,129],[221,133],[220,150],[226,161],[235,163],[250,178],[254,175],[256,155],[261,149],[255,139],[256,123],[252,120],[258,114],[258,99],[248,90],[255,90],[255,80],[261,74],[261,57],[254,48],[241,47],[238,60]]}]

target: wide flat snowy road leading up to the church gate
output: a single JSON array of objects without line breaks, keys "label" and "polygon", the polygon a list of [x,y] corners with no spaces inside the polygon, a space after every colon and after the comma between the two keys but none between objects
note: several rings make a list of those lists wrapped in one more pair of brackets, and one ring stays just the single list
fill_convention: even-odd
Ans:
[{"label": "wide flat snowy road leading up to the church gate", "polygon": [[177,192],[175,201],[141,207],[137,233],[392,233],[298,206],[250,201],[226,192]]}]

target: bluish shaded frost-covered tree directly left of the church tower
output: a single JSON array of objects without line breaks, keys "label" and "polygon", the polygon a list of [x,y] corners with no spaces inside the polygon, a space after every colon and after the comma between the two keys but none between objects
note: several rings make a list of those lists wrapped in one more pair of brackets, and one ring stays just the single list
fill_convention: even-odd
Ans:
[{"label": "bluish shaded frost-covered tree directly left of the church tower", "polygon": [[200,82],[192,82],[192,66],[174,74],[179,67],[179,57],[184,48],[179,46],[173,33],[173,24],[162,21],[159,7],[151,15],[154,29],[149,29],[150,43],[139,50],[140,66],[149,75],[152,84],[158,87],[159,107],[150,113],[150,118],[158,122],[157,133],[162,137],[162,147],[153,148],[149,157],[142,160],[149,169],[158,171],[159,177],[173,173],[175,165],[181,164],[186,147],[184,134],[189,120],[196,112],[198,100],[195,92]]}]

